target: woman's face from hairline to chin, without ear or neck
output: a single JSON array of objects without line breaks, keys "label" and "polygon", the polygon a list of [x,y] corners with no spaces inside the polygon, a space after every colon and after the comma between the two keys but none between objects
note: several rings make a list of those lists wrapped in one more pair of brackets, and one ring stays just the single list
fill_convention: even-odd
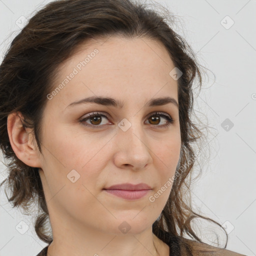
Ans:
[{"label": "woman's face from hairline to chin, without ear or neck", "polygon": [[[164,46],[145,38],[91,40],[61,63],[47,95],[39,156],[53,228],[112,234],[151,228],[180,153],[173,68]],[[150,189],[105,189],[122,183]]]}]

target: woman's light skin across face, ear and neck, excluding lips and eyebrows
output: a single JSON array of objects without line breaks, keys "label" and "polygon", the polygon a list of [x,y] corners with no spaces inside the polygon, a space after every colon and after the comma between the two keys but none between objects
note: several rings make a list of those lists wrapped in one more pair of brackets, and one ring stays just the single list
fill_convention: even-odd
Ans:
[{"label": "woman's light skin across face, ear and neck, excluding lips and eyebrows", "polygon": [[[98,53],[86,66],[47,99],[42,154],[32,131],[22,127],[22,114],[8,116],[15,154],[27,165],[39,167],[53,233],[47,255],[167,256],[168,245],[152,233],[152,223],[161,213],[171,185],[153,202],[149,196],[175,173],[181,144],[178,107],[173,102],[145,104],[165,96],[178,102],[177,81],[169,75],[173,62],[162,44],[148,38],[91,40],[60,64],[53,89],[95,48]],[[90,96],[111,97],[123,106],[68,106]],[[101,122],[81,121],[95,111],[108,117],[99,115]],[[173,122],[164,126],[167,119],[156,111]],[[123,118],[131,124],[126,131],[118,126]],[[75,182],[67,177],[72,169],[80,175]],[[152,189],[136,200],[103,190],[126,182],[143,182]],[[126,233],[118,228],[123,222],[130,227]]]}]

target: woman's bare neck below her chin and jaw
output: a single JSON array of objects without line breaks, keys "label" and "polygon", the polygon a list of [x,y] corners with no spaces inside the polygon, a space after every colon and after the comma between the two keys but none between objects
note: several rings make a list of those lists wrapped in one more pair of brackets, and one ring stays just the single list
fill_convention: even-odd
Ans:
[{"label": "woman's bare neck below her chin and jaw", "polygon": [[95,230],[77,233],[75,229],[68,232],[53,232],[47,256],[167,256],[168,245],[156,237],[151,228],[139,234],[114,235]]}]

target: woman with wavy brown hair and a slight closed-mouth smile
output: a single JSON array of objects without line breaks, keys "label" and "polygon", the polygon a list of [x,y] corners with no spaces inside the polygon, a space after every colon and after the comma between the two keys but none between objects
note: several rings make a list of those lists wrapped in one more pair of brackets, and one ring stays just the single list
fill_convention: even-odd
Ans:
[{"label": "woman with wavy brown hair and a slight closed-mouth smile", "polygon": [[9,201],[38,203],[38,255],[241,255],[190,225],[220,226],[185,195],[196,76],[185,40],[130,0],[53,1],[29,20],[0,66],[0,145]]}]

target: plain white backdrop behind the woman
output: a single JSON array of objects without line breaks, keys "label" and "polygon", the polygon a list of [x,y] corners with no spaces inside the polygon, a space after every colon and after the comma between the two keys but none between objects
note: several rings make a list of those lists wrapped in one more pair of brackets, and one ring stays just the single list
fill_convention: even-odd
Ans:
[{"label": "plain white backdrop behind the woman", "polygon": [[[0,57],[20,29],[16,20],[22,15],[31,17],[47,2],[0,0]],[[212,127],[207,145],[210,154],[192,186],[193,201],[203,215],[224,223],[229,232],[227,249],[256,255],[256,1],[157,2],[176,15],[179,22],[174,29],[210,70],[195,102]],[[223,123],[226,118],[229,123]],[[2,165],[0,181],[6,175]],[[24,234],[15,228],[20,221],[29,226]],[[33,256],[46,245],[36,236],[31,219],[11,208],[2,189],[0,230],[0,256]]]}]

